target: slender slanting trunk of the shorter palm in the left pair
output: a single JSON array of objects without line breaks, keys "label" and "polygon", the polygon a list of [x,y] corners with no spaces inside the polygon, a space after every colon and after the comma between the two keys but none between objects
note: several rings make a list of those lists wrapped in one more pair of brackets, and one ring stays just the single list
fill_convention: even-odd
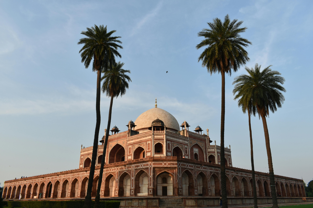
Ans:
[{"label": "slender slanting trunk of the shorter palm in the left pair", "polygon": [[94,208],[100,207],[99,206],[100,191],[101,191],[100,189],[101,189],[102,176],[103,176],[103,167],[104,167],[104,162],[105,162],[106,146],[108,144],[109,130],[110,130],[110,125],[111,125],[113,98],[114,98],[114,96],[111,96],[108,126],[107,126],[107,130],[106,130],[106,134],[105,134],[104,147],[103,147],[102,160],[101,160],[100,173],[99,173],[99,182],[98,182],[98,187],[97,187],[97,194],[96,194],[96,198],[95,198],[95,206],[94,206]]}]

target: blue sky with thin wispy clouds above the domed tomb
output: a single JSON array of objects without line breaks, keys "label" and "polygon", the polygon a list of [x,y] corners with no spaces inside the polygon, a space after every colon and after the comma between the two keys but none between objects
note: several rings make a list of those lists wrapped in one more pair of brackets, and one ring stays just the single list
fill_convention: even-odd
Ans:
[{"label": "blue sky with thin wispy clouds above the domed tomb", "polygon": [[[197,33],[213,18],[244,21],[250,61],[285,78],[285,102],[267,118],[274,173],[313,178],[312,1],[0,1],[0,186],[5,180],[79,168],[95,132],[97,75],[81,63],[81,31],[116,30],[132,82],[113,101],[111,127],[157,105],[220,144],[221,75],[198,62]],[[168,73],[166,73],[168,71]],[[251,169],[248,115],[226,76],[225,146],[234,167]],[[110,99],[101,94],[99,138]],[[262,120],[251,118],[255,170],[269,172]]]}]

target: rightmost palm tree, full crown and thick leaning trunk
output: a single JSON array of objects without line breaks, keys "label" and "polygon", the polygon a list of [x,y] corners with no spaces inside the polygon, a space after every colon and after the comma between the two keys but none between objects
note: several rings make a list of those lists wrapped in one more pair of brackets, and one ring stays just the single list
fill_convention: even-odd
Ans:
[{"label": "rightmost palm tree, full crown and thick leaning trunk", "polygon": [[[262,118],[267,159],[269,163],[269,179],[271,186],[271,193],[273,199],[273,207],[277,208],[277,196],[275,189],[274,169],[272,162],[272,153],[269,145],[269,130],[267,128],[266,117],[269,115],[269,111],[274,113],[278,108],[281,108],[285,101],[285,97],[282,92],[286,92],[285,88],[281,86],[284,84],[285,79],[280,76],[278,71],[270,69],[271,65],[260,71],[261,65],[255,64],[254,69],[245,70],[248,75],[242,75],[245,80],[242,85],[242,90],[247,95],[251,96],[253,106],[256,107],[256,112],[259,114],[259,118]],[[280,85],[281,84],[281,85]]]}]

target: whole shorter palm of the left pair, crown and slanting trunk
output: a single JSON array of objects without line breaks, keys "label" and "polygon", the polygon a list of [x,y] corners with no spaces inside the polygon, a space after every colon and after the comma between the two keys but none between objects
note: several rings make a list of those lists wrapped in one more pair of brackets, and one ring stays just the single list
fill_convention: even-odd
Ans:
[{"label": "whole shorter palm of the left pair, crown and slanting trunk", "polygon": [[126,93],[126,89],[128,89],[128,82],[131,81],[131,78],[128,75],[126,75],[126,73],[131,73],[131,71],[122,69],[123,66],[124,66],[124,63],[121,63],[120,61],[118,63],[114,63],[113,65],[109,67],[108,70],[104,71],[104,75],[101,77],[101,81],[104,80],[102,84],[102,92],[105,93],[107,97],[110,97],[111,101],[110,101],[110,109],[109,109],[108,126],[106,128],[108,130],[106,131],[106,134],[105,134],[104,148],[103,148],[100,173],[99,173],[99,183],[98,183],[97,194],[95,198],[95,208],[99,206],[99,200],[100,200],[100,187],[101,187],[100,181],[102,181],[103,167],[105,163],[106,146],[108,143],[109,129],[111,125],[113,98],[117,98],[119,95],[123,96]]}]

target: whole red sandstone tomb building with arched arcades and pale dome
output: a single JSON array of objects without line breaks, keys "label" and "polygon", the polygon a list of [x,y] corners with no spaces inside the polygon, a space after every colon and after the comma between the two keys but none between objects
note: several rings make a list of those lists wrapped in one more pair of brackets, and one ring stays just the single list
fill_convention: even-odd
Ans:
[{"label": "whole red sandstone tomb building with arched arcades and pale dome", "polygon": [[[151,125],[147,125],[147,123]],[[138,123],[138,125],[136,125]],[[112,128],[101,181],[101,197],[117,196],[219,196],[220,146],[210,145],[198,126],[193,133],[185,121],[179,128],[168,112],[154,108],[141,114],[118,133]],[[103,140],[100,140],[103,143]],[[98,146],[92,197],[95,197],[103,145]],[[3,198],[82,198],[88,184],[92,147],[81,148],[79,168],[5,181]],[[225,148],[227,194],[251,197],[250,170],[233,167],[231,150]],[[255,172],[258,197],[271,196],[269,174]],[[276,192],[282,197],[305,197],[303,180],[275,176]]]}]

